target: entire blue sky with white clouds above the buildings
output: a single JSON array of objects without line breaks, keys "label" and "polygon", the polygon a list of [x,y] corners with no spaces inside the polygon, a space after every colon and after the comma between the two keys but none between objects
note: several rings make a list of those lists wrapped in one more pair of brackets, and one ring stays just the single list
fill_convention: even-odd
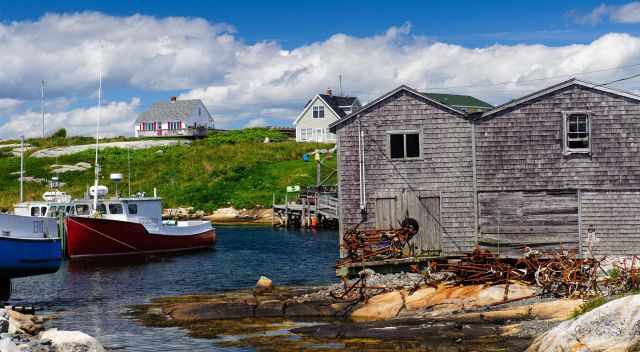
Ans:
[{"label": "entire blue sky with white clouds above the buildings", "polygon": [[[332,88],[406,84],[492,104],[571,77],[640,73],[640,2],[0,0],[0,138],[132,135],[153,102],[202,99],[218,128],[292,126]],[[640,92],[640,78],[612,85]]]}]

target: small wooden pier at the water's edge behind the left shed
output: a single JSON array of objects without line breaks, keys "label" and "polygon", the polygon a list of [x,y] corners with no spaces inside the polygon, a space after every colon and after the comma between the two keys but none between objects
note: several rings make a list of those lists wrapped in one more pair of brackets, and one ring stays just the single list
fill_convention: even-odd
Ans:
[{"label": "small wooden pier at the water's edge behind the left shed", "polygon": [[296,201],[273,204],[273,226],[338,228],[338,195],[306,191]]}]

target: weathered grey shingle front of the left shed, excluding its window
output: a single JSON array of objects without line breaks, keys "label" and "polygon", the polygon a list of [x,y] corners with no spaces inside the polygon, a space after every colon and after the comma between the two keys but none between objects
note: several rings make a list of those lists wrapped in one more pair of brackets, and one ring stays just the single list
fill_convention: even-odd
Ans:
[{"label": "weathered grey shingle front of the left shed, excluding its window", "polygon": [[[410,209],[409,215],[420,217],[416,220],[421,228],[424,227],[424,231],[421,229],[424,238],[414,242],[423,250],[429,251],[434,245],[440,245],[445,253],[472,249],[476,239],[471,124],[468,120],[406,91],[373,106],[359,118],[365,131],[368,210],[367,220],[361,228],[388,227],[387,222],[394,221],[397,225]],[[420,159],[390,161],[385,158],[389,153],[387,133],[399,130],[421,133]],[[339,126],[337,135],[342,234],[362,220],[358,118]],[[416,200],[407,197],[409,192]],[[436,204],[439,204],[438,212],[426,210],[436,208]],[[422,210],[417,211],[418,206],[423,207]],[[395,213],[391,214],[390,209],[395,209]],[[384,214],[381,216],[376,212]],[[434,224],[434,217],[440,218],[438,225]],[[436,231],[441,232],[436,236],[438,238],[429,239],[428,236],[434,236]]]}]

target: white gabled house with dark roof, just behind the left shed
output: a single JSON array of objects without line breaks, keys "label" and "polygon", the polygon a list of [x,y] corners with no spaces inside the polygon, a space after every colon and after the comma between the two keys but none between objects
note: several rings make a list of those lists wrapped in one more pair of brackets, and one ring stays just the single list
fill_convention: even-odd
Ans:
[{"label": "white gabled house with dark roof, just behind the left shed", "polygon": [[335,143],[336,135],[329,132],[329,125],[360,107],[358,98],[333,95],[331,89],[327,89],[326,94],[309,100],[293,122],[296,141]]}]

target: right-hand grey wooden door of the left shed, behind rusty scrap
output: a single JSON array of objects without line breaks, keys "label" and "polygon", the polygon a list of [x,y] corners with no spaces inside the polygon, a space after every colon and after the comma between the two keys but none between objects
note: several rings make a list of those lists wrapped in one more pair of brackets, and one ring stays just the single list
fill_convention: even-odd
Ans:
[{"label": "right-hand grey wooden door of the left shed, behind rusty scrap", "polygon": [[405,192],[402,219],[406,216],[416,219],[420,231],[413,238],[416,255],[440,250],[440,197],[420,196],[415,192]]}]

